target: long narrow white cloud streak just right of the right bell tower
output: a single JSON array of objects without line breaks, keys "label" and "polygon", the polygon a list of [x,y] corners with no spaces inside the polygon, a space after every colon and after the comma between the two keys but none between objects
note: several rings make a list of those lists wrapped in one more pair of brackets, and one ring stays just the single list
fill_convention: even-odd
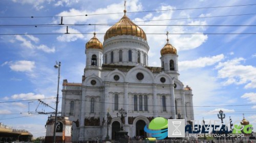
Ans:
[{"label": "long narrow white cloud streak just right of the right bell tower", "polygon": [[212,57],[200,57],[193,61],[181,61],[179,62],[179,70],[188,70],[193,68],[203,68],[205,66],[214,65],[224,59],[224,54],[218,54]]}]

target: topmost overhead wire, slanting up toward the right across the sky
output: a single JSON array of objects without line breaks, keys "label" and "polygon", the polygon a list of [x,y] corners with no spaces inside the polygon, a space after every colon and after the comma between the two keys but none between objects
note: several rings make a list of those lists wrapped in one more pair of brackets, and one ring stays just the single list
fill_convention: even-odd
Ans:
[{"label": "topmost overhead wire, slanting up toward the right across the sky", "polygon": [[[198,9],[218,9],[218,8],[225,8],[225,7],[240,7],[240,6],[255,6],[255,5],[256,5],[256,3],[247,4],[247,5],[233,5],[233,6],[212,6],[212,7],[192,7],[192,8],[183,8],[183,9],[168,9],[168,10],[130,11],[130,12],[126,12],[126,13],[177,11],[177,10],[198,10]],[[62,16],[0,16],[0,18],[60,18],[60,17],[74,17],[74,16],[109,15],[109,14],[123,14],[123,12],[83,14],[83,15],[62,15]]]}]

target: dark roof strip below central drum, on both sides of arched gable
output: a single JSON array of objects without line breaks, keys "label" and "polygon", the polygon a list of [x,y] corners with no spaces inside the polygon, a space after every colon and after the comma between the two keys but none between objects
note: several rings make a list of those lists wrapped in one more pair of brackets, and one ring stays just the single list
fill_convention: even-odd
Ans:
[{"label": "dark roof strip below central drum, on both sides of arched gable", "polygon": [[[102,70],[115,70],[118,69],[122,72],[128,72],[130,69],[134,68],[135,66],[123,66],[123,65],[109,65],[103,64]],[[149,69],[152,73],[160,73],[162,72],[163,68],[160,67],[153,67],[153,66],[145,66],[145,68]]]}]

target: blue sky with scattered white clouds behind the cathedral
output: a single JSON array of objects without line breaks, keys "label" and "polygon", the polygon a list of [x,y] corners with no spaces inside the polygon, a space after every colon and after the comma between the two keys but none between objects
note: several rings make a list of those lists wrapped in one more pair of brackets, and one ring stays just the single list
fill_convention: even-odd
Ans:
[{"label": "blue sky with scattered white clouds behind the cathedral", "polygon": [[[35,112],[38,106],[36,100],[29,99],[47,98],[44,99],[44,102],[55,107],[55,99],[53,99],[57,92],[57,70],[53,68],[55,61],[61,61],[60,85],[63,79],[68,79],[68,82],[81,82],[85,67],[85,43],[93,36],[92,34],[8,35],[15,33],[65,33],[66,27],[10,27],[3,25],[59,24],[60,18],[53,16],[70,16],[63,18],[64,24],[115,23],[123,14],[89,14],[122,12],[123,3],[123,1],[110,0],[1,1],[0,102],[26,101],[0,103],[0,122],[13,128],[27,129],[35,137],[45,136],[44,125],[47,115],[28,115],[28,102],[34,101],[29,103],[31,112]],[[170,43],[177,48],[179,54],[180,80],[184,86],[189,85],[193,89],[196,120],[201,120],[203,117],[205,120],[217,120],[217,112],[224,110],[226,120],[229,116],[233,121],[242,120],[242,113],[245,113],[246,119],[254,126],[256,125],[255,34],[209,34],[256,33],[255,27],[245,26],[256,25],[256,5],[251,4],[255,4],[255,2],[246,0],[128,0],[126,2],[127,12],[174,9],[174,11],[127,13],[127,16],[134,23],[141,24],[140,27],[146,33],[169,31]],[[218,6],[233,7],[178,10]],[[85,14],[89,16],[71,16]],[[34,16],[34,18],[10,18],[23,16]],[[204,18],[205,16],[212,18]],[[143,26],[145,24],[200,26]],[[237,26],[235,27],[235,25]],[[100,33],[105,33],[109,27],[96,26],[96,32],[99,33],[97,37],[102,43],[104,34]],[[69,26],[69,32],[93,33],[94,26]],[[201,34],[179,35],[173,33]],[[160,49],[166,44],[166,35],[148,34],[147,41],[150,46],[149,65],[160,66]],[[52,110],[40,105],[38,111]]]}]

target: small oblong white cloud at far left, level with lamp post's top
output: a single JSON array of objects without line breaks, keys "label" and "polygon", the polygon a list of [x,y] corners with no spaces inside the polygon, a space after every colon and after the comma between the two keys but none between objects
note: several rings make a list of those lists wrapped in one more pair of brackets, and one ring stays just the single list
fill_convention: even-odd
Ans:
[{"label": "small oblong white cloud at far left, level with lamp post's top", "polygon": [[34,61],[16,61],[10,64],[11,70],[15,72],[32,72],[32,69],[35,68]]}]

